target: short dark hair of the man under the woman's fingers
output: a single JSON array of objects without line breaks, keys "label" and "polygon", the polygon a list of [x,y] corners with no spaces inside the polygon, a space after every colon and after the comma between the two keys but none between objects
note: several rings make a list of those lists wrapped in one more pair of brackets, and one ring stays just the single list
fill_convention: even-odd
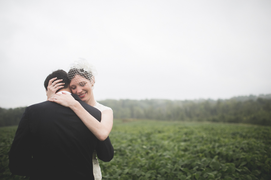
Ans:
[{"label": "short dark hair of the man under the woman's fingers", "polygon": [[[48,87],[48,83],[51,79],[57,77],[57,79],[55,79],[53,82],[55,82],[56,80],[58,79],[63,79],[63,81],[60,81],[59,83],[61,82],[64,82],[64,89],[65,88],[68,88],[68,84],[70,84],[70,79],[68,78],[68,74],[66,73],[66,71],[62,70],[62,69],[58,69],[58,70],[55,70],[53,71],[51,74],[49,74],[45,81],[44,81],[44,87],[46,89],[46,91],[48,91],[47,87]],[[61,88],[63,89],[63,88]],[[59,89],[58,91],[60,91],[61,89]]]}]

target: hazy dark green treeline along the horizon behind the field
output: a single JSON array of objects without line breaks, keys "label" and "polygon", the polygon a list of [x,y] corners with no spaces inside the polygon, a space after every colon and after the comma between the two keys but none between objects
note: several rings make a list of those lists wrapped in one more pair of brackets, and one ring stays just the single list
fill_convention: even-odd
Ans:
[{"label": "hazy dark green treeline along the horizon behind the field", "polygon": [[[271,125],[271,94],[239,96],[228,100],[104,100],[115,119],[210,121]],[[0,108],[0,126],[18,125],[25,108]]]}]

